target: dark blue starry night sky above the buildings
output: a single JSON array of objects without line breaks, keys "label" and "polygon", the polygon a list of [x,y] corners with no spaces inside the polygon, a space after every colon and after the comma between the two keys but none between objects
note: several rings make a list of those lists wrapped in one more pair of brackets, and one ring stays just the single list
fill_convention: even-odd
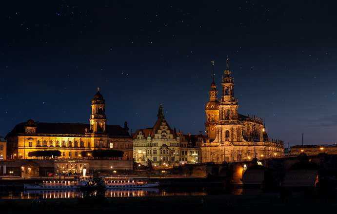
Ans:
[{"label": "dark blue starry night sky above the buildings", "polygon": [[[204,131],[211,60],[226,56],[239,113],[285,146],[337,142],[337,13],[331,1],[7,1],[0,7],[0,135],[32,118]],[[130,130],[131,131],[131,130]]]}]

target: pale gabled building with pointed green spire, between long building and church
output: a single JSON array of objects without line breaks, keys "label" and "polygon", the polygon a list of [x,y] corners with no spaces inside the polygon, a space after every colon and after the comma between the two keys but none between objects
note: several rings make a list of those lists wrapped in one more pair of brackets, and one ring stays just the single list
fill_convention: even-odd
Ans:
[{"label": "pale gabled building with pointed green spire, between long building and church", "polygon": [[184,135],[171,129],[159,106],[157,121],[151,128],[139,129],[133,135],[135,162],[154,168],[174,167],[200,162],[200,146],[206,136]]}]

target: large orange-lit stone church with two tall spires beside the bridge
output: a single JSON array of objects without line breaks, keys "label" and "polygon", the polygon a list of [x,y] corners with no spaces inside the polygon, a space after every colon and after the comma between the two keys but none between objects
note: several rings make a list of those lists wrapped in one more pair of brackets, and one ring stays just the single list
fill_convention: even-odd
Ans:
[{"label": "large orange-lit stone church with two tall spires beside the bridge", "polygon": [[228,58],[219,101],[214,81],[214,61],[212,80],[209,101],[205,106],[208,140],[201,144],[202,162],[223,163],[282,156],[283,141],[269,139],[261,118],[238,114],[238,99],[234,97],[234,78]]}]

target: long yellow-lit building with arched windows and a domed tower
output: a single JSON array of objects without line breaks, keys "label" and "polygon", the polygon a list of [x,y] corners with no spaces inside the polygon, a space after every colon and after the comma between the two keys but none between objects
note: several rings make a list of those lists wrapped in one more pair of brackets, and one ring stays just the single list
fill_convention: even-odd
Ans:
[{"label": "long yellow-lit building with arched windows and a domed tower", "polygon": [[93,150],[120,150],[121,160],[132,160],[132,137],[124,127],[107,125],[105,100],[99,92],[91,100],[90,124],[27,122],[17,124],[5,137],[7,156],[27,159],[29,152],[59,150],[60,158],[81,158],[81,152]]}]

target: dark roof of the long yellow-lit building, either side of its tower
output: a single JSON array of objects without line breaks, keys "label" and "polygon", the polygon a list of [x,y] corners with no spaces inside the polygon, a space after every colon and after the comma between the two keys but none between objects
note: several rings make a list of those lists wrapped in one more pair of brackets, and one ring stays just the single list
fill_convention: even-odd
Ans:
[{"label": "dark roof of the long yellow-lit building, either side of its tower", "polygon": [[[26,122],[17,124],[5,138],[24,134],[26,125]],[[90,125],[84,123],[35,122],[34,127],[36,127],[36,134],[85,135],[85,129],[90,130]],[[119,125],[106,125],[106,132],[110,136],[129,136],[129,133]]]}]

